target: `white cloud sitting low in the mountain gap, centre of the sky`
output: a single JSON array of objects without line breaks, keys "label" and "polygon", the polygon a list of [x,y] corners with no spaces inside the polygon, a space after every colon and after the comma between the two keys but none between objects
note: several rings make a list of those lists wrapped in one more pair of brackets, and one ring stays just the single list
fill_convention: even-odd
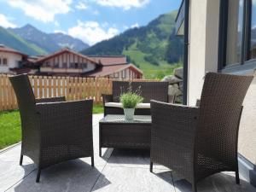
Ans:
[{"label": "white cloud sitting low in the mountain gap, centre of the sky", "polygon": [[68,34],[74,38],[79,38],[84,43],[93,45],[102,40],[113,38],[119,34],[119,30],[114,27],[109,27],[107,30],[103,29],[103,26],[96,21],[78,20],[78,25],[68,29]]}]

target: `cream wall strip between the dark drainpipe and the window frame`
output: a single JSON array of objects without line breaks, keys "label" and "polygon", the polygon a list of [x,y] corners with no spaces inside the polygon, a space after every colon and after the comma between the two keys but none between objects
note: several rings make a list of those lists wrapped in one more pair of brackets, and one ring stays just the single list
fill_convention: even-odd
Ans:
[{"label": "cream wall strip between the dark drainpipe and the window frame", "polygon": [[189,6],[188,103],[201,97],[203,78],[218,70],[219,0],[191,0]]}]

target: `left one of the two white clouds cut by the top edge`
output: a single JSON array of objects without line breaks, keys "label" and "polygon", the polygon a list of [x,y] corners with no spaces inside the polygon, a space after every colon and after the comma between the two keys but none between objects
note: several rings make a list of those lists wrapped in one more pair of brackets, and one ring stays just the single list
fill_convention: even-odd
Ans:
[{"label": "left one of the two white clouds cut by the top edge", "polygon": [[67,14],[73,0],[9,0],[13,8],[22,9],[25,15],[43,22],[55,21],[55,15]]}]

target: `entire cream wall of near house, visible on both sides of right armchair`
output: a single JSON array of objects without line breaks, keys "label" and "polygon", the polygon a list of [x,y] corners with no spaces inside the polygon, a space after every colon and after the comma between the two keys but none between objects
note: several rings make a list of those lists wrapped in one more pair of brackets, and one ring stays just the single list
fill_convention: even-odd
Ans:
[{"label": "entire cream wall of near house, visible on both sides of right armchair", "polygon": [[[218,71],[219,0],[190,0],[188,102],[195,105],[201,97],[204,76]],[[241,71],[239,74],[252,75]],[[256,165],[256,73],[254,73],[241,116],[239,153]]]}]

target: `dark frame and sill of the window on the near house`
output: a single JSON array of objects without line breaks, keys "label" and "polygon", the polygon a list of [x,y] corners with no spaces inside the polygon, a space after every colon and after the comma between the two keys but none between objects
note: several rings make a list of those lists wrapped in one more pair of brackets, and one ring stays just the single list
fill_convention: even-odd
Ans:
[{"label": "dark frame and sill of the window on the near house", "polygon": [[241,61],[226,65],[229,3],[230,0],[221,0],[219,5],[218,72],[235,73],[241,70],[253,70],[256,67],[256,58],[249,59],[253,13],[252,0],[244,0]]}]

